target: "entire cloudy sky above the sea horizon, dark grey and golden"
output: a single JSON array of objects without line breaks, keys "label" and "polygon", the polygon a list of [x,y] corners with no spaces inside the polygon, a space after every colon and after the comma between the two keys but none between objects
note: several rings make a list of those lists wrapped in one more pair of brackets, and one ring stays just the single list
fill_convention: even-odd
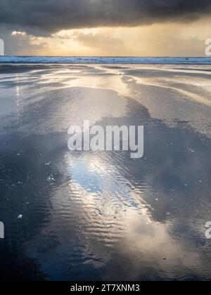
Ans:
[{"label": "entire cloudy sky above the sea horizon, dark grey and golden", "polygon": [[205,56],[210,0],[1,0],[6,55]]}]

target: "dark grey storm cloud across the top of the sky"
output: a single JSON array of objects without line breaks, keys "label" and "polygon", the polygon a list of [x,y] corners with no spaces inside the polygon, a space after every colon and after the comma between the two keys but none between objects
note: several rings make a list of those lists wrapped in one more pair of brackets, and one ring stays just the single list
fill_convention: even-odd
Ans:
[{"label": "dark grey storm cloud across the top of the sky", "polygon": [[1,0],[0,25],[51,33],[60,29],[195,20],[210,0]]}]

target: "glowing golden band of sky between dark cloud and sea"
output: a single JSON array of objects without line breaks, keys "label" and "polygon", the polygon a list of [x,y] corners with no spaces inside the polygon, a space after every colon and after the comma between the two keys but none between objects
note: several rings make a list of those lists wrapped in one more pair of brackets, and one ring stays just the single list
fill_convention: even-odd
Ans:
[{"label": "glowing golden band of sky between dark cloud and sea", "polygon": [[210,18],[138,27],[63,29],[47,37],[13,31],[22,55],[203,56]]}]

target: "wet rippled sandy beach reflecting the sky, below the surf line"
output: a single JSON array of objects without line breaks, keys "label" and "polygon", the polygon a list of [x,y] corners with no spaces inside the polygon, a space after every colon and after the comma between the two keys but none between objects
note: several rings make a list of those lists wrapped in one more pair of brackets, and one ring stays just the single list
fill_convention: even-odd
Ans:
[{"label": "wet rippled sandy beach reflecting the sky, below the surf line", "polygon": [[[1,65],[1,280],[210,280],[210,78],[209,65]],[[144,125],[144,157],[70,152],[84,119]]]}]

